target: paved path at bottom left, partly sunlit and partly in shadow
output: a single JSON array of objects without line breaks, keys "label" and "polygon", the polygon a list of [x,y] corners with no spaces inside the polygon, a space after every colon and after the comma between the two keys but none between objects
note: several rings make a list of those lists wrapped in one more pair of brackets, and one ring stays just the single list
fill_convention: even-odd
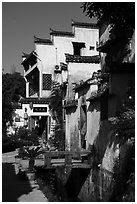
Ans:
[{"label": "paved path at bottom left, partly sunlit and partly in shadow", "polygon": [[17,152],[2,154],[2,201],[3,202],[48,202],[34,181],[21,180],[15,168]]}]

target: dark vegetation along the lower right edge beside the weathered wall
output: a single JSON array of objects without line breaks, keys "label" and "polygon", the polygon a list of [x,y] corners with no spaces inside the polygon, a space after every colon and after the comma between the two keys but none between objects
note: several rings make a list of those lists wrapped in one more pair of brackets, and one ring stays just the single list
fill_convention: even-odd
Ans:
[{"label": "dark vegetation along the lower right edge beside the weathered wall", "polygon": [[[110,201],[135,201],[135,111],[125,110],[113,122],[120,144],[120,158],[114,167],[114,190]],[[124,150],[123,150],[124,149]]]}]

